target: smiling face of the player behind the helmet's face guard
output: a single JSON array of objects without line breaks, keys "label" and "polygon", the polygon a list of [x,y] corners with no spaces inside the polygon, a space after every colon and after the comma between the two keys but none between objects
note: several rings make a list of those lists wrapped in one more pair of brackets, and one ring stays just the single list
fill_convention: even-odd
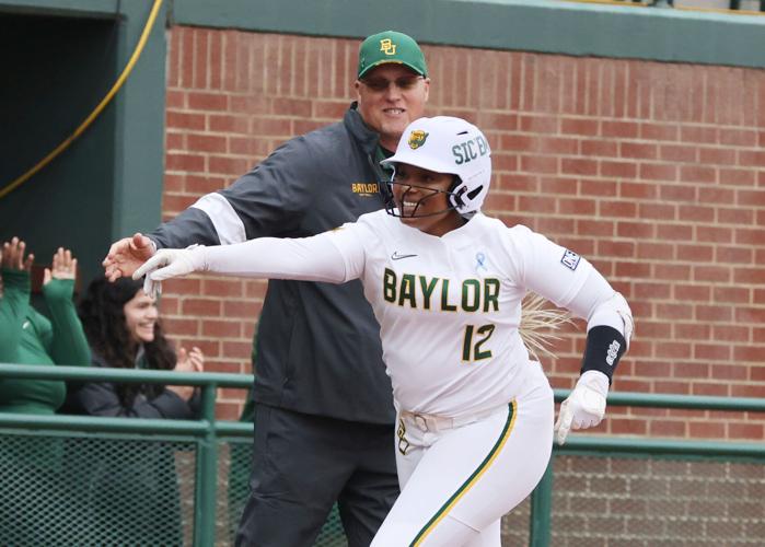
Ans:
[{"label": "smiling face of the player behind the helmet's face guard", "polygon": [[454,209],[450,209],[447,194],[453,181],[454,175],[450,173],[397,164],[392,189],[401,221],[438,236],[460,228],[464,221]]}]

